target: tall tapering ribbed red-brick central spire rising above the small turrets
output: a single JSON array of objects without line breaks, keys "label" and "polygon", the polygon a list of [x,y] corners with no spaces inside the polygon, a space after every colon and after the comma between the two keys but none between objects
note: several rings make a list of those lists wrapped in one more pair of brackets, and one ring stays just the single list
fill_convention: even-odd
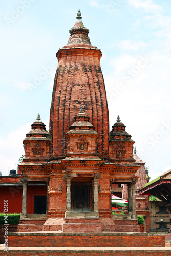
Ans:
[{"label": "tall tapering ribbed red-brick central spire rising above the small turrets", "polygon": [[55,157],[66,154],[65,134],[81,104],[99,135],[99,155],[108,155],[109,114],[100,67],[102,53],[91,45],[89,30],[81,19],[78,11],[68,44],[56,53],[58,67],[50,111],[51,154]]}]

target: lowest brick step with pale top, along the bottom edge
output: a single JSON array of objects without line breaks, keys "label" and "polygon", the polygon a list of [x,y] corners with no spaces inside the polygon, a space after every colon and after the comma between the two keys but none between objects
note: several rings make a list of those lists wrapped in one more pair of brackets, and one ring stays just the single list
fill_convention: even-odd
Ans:
[{"label": "lowest brick step with pale top, along the bottom edge", "polygon": [[[8,248],[10,256],[170,256],[170,247],[9,247]],[[7,255],[4,251],[4,247],[0,246],[0,255]]]}]

